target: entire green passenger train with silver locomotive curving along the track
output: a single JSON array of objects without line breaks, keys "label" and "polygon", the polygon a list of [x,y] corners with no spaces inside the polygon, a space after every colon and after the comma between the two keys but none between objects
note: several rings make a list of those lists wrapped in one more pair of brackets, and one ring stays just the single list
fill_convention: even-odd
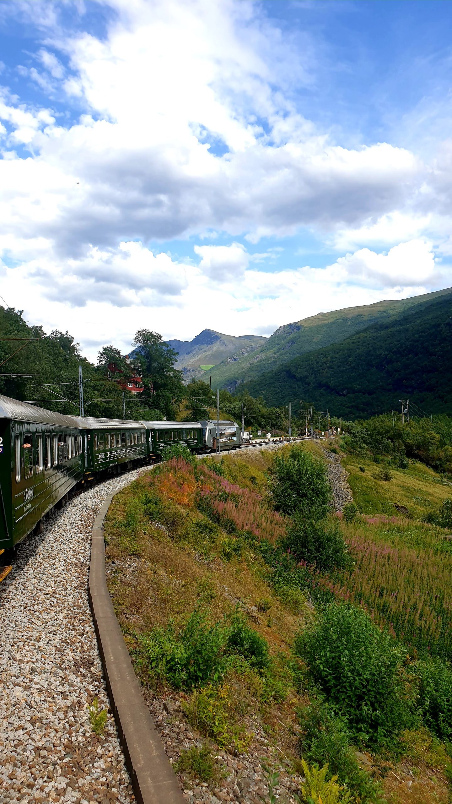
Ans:
[{"label": "entire green passenger train with silver locomotive curving along the track", "polygon": [[[0,555],[7,557],[75,486],[135,462],[154,462],[169,445],[216,451],[216,422],[131,421],[62,416],[0,396]],[[220,449],[241,444],[234,421],[220,421]],[[0,563],[2,558],[0,558]],[[0,566],[0,580],[10,571]]]}]

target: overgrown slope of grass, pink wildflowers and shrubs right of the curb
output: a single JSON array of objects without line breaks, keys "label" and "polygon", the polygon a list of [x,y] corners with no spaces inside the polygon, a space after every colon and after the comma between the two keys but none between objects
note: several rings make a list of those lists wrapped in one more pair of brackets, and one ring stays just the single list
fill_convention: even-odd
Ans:
[{"label": "overgrown slope of grass, pink wildflowers and shrubs right of the curb", "polygon": [[264,734],[269,797],[281,783],[281,801],[446,804],[444,529],[360,503],[336,515],[315,445],[166,458],[117,495],[106,538],[138,676],[199,735],[178,772],[218,791],[215,751],[255,756]]}]

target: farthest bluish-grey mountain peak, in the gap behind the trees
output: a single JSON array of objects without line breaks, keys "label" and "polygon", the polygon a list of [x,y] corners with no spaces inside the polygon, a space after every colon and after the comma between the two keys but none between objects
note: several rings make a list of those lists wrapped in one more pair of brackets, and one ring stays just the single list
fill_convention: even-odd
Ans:
[{"label": "farthest bluish-grey mountain peak, in the gap behind the trees", "polygon": [[201,366],[215,366],[224,359],[239,359],[249,355],[263,346],[267,339],[262,335],[225,335],[205,329],[191,341],[171,338],[166,343],[177,351],[179,357],[175,367],[182,369],[184,379],[188,382],[207,375]]}]

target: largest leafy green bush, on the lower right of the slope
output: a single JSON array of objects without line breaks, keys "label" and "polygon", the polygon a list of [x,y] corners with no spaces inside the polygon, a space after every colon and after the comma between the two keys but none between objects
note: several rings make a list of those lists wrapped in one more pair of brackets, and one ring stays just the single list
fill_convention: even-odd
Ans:
[{"label": "largest leafy green bush, on the lower right of the slope", "polygon": [[363,609],[330,603],[296,640],[315,683],[347,718],[355,740],[392,745],[409,724],[400,668],[405,654]]}]

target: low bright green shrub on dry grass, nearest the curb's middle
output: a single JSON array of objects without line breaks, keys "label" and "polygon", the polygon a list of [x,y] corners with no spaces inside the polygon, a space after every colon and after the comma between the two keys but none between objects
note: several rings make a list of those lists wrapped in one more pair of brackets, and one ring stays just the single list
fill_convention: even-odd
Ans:
[{"label": "low bright green shrub on dry grass, nearest the curb's middle", "polygon": [[224,645],[227,634],[207,626],[205,615],[194,611],[187,625],[175,634],[170,623],[138,637],[138,667],[150,679],[166,679],[173,687],[191,689],[208,680],[220,680],[227,667]]}]

